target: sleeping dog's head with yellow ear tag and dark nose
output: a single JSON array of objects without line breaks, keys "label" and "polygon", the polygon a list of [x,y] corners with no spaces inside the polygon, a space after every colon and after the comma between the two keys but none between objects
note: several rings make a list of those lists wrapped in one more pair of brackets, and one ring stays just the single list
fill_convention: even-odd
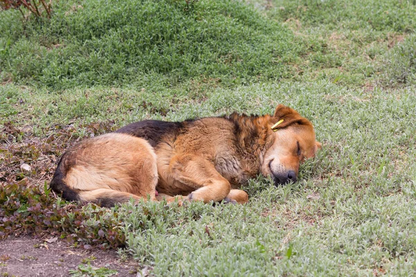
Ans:
[{"label": "sleeping dog's head with yellow ear tag and dark nose", "polygon": [[261,174],[271,176],[276,185],[297,181],[300,163],[321,148],[312,123],[294,109],[278,105],[268,128],[272,144],[264,154]]}]

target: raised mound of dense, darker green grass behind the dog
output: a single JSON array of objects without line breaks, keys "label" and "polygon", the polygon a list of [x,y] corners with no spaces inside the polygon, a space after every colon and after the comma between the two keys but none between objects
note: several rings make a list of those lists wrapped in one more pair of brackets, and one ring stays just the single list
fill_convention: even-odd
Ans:
[{"label": "raised mound of dense, darker green grass behind the dog", "polygon": [[170,84],[276,80],[302,48],[286,28],[231,0],[69,1],[56,4],[51,21],[23,27],[3,14],[3,78],[53,88],[150,82],[146,76]]}]

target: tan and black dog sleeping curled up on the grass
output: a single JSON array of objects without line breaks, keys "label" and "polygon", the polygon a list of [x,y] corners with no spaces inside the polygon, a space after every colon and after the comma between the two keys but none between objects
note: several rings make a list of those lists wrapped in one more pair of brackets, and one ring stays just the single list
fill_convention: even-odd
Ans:
[{"label": "tan and black dog sleeping curled up on the grass", "polygon": [[284,105],[265,116],[144,120],[73,145],[50,187],[105,207],[130,199],[243,204],[248,194],[239,188],[248,179],[295,182],[300,163],[320,148],[312,123]]}]

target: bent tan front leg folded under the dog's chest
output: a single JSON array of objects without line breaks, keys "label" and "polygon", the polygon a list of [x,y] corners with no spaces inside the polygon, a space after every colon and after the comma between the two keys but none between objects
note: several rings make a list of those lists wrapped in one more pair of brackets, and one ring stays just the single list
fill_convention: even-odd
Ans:
[{"label": "bent tan front leg folded under the dog's chest", "polygon": [[216,171],[213,163],[195,155],[173,157],[169,170],[175,180],[196,189],[188,195],[189,200],[220,201],[231,190],[229,181]]}]

